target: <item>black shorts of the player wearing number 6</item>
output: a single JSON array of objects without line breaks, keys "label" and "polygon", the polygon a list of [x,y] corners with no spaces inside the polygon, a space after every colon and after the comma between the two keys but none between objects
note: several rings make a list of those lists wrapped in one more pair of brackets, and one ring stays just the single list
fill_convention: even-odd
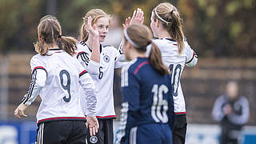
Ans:
[{"label": "black shorts of the player wearing number 6", "polygon": [[114,143],[114,132],[113,132],[113,119],[98,119],[98,133],[90,137],[88,130],[87,142],[88,144],[113,144]]}]

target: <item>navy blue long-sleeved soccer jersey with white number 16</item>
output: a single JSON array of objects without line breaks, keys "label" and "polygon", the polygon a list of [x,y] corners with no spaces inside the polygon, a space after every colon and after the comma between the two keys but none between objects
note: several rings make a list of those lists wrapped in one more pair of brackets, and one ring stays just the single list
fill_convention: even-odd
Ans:
[{"label": "navy blue long-sleeved soccer jersey with white number 16", "polygon": [[135,58],[122,68],[121,84],[123,103],[116,143],[123,143],[134,126],[169,123],[172,128],[174,101],[169,74],[159,74],[148,58]]}]

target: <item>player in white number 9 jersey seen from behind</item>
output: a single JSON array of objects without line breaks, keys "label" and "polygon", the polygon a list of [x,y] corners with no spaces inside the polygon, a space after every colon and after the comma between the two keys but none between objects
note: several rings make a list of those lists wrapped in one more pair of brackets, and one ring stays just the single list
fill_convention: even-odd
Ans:
[{"label": "player in white number 9 jersey seen from behind", "polygon": [[80,105],[78,86],[87,94],[87,124],[90,134],[98,130],[95,112],[96,95],[93,80],[71,55],[76,40],[62,36],[62,28],[53,16],[43,17],[38,25],[38,54],[31,58],[32,82],[22,103],[14,111],[17,118],[40,95],[37,143],[85,143],[86,118]]}]

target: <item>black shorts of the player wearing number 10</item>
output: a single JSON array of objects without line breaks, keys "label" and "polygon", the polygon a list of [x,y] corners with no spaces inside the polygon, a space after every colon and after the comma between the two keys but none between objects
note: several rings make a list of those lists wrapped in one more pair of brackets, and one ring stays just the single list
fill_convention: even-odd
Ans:
[{"label": "black shorts of the player wearing number 10", "polygon": [[175,115],[173,144],[184,144],[186,140],[186,114]]}]

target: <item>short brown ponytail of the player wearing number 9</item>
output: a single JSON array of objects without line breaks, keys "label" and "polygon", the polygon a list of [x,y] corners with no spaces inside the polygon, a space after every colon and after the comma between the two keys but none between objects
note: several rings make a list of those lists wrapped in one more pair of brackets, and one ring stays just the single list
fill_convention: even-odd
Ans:
[{"label": "short brown ponytail of the player wearing number 9", "polygon": [[62,49],[65,50],[66,53],[70,55],[75,54],[75,50],[77,50],[76,43],[78,42],[75,38],[62,36],[60,42]]}]

